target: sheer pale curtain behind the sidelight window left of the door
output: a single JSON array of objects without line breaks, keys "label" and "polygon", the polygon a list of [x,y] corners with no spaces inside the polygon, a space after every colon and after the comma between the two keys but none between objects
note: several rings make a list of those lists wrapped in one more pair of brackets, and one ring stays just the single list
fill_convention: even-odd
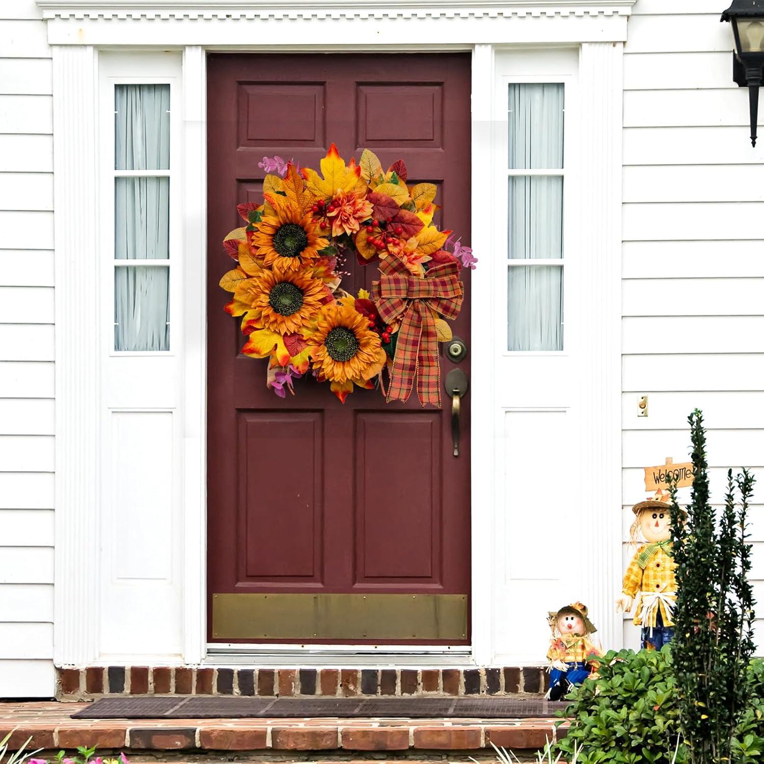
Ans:
[{"label": "sheer pale curtain behind the sidelight window left of the door", "polygon": [[[170,167],[170,86],[115,87],[115,169]],[[170,179],[115,178],[115,259],[169,257]],[[170,268],[115,267],[115,350],[170,349]]]}]

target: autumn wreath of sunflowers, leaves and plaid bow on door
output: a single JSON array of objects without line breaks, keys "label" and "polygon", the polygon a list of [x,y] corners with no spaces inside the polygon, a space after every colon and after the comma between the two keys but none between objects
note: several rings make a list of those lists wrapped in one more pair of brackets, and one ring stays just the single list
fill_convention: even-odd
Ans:
[{"label": "autumn wreath of sunflowers, leaves and plaid bow on door", "polygon": [[[385,172],[368,150],[346,165],[335,144],[322,175],[281,157],[260,167],[264,201],[238,206],[247,225],[225,237],[238,264],[220,286],[233,293],[226,312],[242,316],[242,352],[269,359],[268,387],[284,397],[312,371],[344,403],[356,385],[406,400],[416,382],[422,406],[439,406],[437,343],[452,337],[443,319],[458,316],[459,272],[477,261],[459,241],[446,251],[435,185],[406,186],[403,161]],[[342,289],[351,259],[379,264],[371,293]]]}]

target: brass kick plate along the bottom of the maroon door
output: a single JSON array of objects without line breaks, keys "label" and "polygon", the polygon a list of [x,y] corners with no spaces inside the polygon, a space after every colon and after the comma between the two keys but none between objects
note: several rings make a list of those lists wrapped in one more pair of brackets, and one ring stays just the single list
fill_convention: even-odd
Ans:
[{"label": "brass kick plate along the bottom of the maroon door", "polygon": [[467,639],[466,594],[213,594],[215,639]]}]

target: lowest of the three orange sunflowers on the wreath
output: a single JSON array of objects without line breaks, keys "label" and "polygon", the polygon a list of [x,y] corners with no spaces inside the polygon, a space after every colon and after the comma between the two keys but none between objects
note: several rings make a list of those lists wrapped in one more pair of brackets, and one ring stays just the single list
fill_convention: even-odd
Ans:
[{"label": "lowest of the three orange sunflowers on the wreath", "polygon": [[313,369],[319,379],[340,384],[366,387],[364,380],[379,374],[387,358],[379,335],[351,304],[322,308],[308,342],[313,345]]}]

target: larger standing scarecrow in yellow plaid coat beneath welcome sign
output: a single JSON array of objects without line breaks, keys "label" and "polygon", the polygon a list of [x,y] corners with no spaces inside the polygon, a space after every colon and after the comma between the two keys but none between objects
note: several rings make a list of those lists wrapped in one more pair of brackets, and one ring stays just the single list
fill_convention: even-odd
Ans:
[{"label": "larger standing scarecrow in yellow plaid coat beneath welcome sign", "polygon": [[634,613],[634,623],[642,626],[642,647],[659,650],[674,636],[672,613],[676,604],[674,549],[671,540],[671,496],[659,490],[652,499],[636,503],[631,540],[639,543],[642,533],[646,544],[640,545],[623,576],[623,596],[617,610],[630,613],[641,594]]}]

